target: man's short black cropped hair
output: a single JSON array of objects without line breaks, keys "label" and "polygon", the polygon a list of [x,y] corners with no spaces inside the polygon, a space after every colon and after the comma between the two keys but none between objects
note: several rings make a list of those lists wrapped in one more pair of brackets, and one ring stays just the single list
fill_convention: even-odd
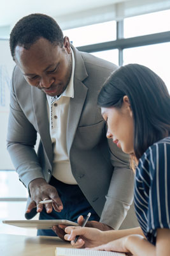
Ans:
[{"label": "man's short black cropped hair", "polygon": [[18,20],[10,34],[10,50],[13,59],[17,45],[29,49],[41,37],[52,44],[63,46],[63,33],[52,17],[34,13]]}]

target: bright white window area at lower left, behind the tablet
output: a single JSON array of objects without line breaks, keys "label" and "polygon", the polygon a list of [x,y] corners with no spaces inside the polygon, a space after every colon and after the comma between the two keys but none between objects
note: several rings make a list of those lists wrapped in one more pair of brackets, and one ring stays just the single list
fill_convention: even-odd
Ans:
[{"label": "bright white window area at lower left, behind the tablet", "polygon": [[[36,236],[36,230],[13,227],[2,223],[3,220],[25,220],[25,200],[28,193],[18,180],[16,172],[0,171],[0,195],[0,233]],[[38,215],[35,218],[37,219]]]}]

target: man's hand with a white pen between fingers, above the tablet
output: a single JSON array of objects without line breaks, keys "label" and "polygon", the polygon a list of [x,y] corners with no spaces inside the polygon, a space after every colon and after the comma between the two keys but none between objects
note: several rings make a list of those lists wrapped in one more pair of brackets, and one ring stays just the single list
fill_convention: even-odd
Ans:
[{"label": "man's hand with a white pen between fingers, above the tablet", "polygon": [[45,179],[35,179],[29,184],[29,191],[31,194],[32,202],[27,207],[27,213],[31,212],[33,208],[37,208],[37,212],[43,211],[43,204],[39,204],[40,201],[52,199],[53,203],[44,204],[46,212],[52,212],[52,209],[60,212],[63,209],[62,202],[57,193],[57,190],[48,184]]}]

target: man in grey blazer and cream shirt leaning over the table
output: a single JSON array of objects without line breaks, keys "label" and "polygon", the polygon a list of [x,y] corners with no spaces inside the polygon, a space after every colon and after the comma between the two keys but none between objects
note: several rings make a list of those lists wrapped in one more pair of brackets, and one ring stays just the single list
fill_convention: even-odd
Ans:
[{"label": "man in grey blazer and cream shirt leaning over the table", "polygon": [[[76,221],[91,212],[90,227],[120,227],[132,204],[134,175],[129,157],[106,139],[96,106],[97,93],[117,66],[79,52],[55,20],[42,14],[17,22],[10,49],[17,66],[7,140],[30,195],[25,217],[37,211],[40,220]],[[39,204],[48,199],[53,203]],[[80,217],[78,223],[82,221]],[[54,228],[60,237],[62,228]],[[38,234],[55,235],[52,230]]]}]

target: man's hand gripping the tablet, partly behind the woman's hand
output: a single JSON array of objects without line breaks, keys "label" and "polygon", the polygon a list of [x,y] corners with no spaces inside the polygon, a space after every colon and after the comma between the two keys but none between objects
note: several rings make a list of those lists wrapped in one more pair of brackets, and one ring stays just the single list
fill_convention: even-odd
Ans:
[{"label": "man's hand gripping the tablet, partly behind the woman's hand", "polygon": [[[83,225],[83,222],[84,222],[84,218],[82,215],[80,215],[78,217],[78,220],[77,220],[78,224],[80,226]],[[55,232],[55,234],[57,234],[57,236],[59,236],[62,240],[65,239],[64,235],[66,234],[65,232],[65,228],[67,226],[66,225],[58,225],[58,226],[53,226],[53,231]],[[104,223],[100,223],[99,221],[87,221],[87,224],[85,225],[85,227],[90,227],[90,228],[97,228],[99,230],[102,230],[102,231],[106,231],[106,230],[113,230],[113,228],[109,227],[108,225],[104,224]]]}]

